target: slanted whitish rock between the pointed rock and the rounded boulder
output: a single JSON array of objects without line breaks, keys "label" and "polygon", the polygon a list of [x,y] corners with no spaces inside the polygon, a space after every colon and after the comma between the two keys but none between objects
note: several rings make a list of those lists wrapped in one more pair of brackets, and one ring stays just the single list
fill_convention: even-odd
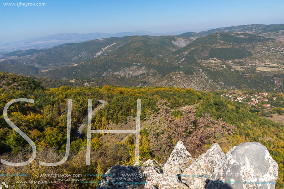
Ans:
[{"label": "slanted whitish rock between the pointed rock and the rounded boulder", "polygon": [[206,180],[212,178],[214,167],[221,162],[225,153],[217,143],[199,156],[181,175],[182,182],[191,189],[205,188]]}]

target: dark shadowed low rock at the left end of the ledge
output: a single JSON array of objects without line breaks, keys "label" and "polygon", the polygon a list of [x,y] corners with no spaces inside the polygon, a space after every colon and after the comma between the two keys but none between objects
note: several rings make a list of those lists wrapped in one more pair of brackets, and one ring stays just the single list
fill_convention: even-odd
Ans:
[{"label": "dark shadowed low rock at the left end of the ledge", "polygon": [[[115,189],[115,188],[142,188],[140,182],[145,182],[142,166],[124,166],[116,165],[111,167],[102,177],[102,182],[97,189]],[[123,174],[132,174],[123,175]],[[134,176],[133,176],[134,174]],[[136,176],[135,176],[136,175]],[[132,184],[139,182],[139,184]]]}]

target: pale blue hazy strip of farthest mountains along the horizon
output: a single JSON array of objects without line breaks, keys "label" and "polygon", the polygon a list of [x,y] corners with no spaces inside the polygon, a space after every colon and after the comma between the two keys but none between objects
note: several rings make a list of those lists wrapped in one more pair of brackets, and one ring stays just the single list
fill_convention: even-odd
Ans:
[{"label": "pale blue hazy strip of farthest mountains along the horizon", "polygon": [[[84,41],[91,41],[101,38],[110,37],[124,37],[124,36],[134,36],[134,35],[151,35],[151,36],[162,36],[162,35],[179,35],[181,37],[191,37],[196,39],[197,37],[203,37],[205,35],[215,33],[215,32],[251,32],[251,33],[267,33],[283,30],[283,24],[250,24],[241,26],[231,26],[216,28],[201,32],[186,32],[186,31],[176,31],[176,32],[164,32],[164,33],[153,33],[148,31],[135,31],[135,32],[120,32],[120,33],[57,33],[54,35],[48,35],[44,37],[33,37],[21,41],[15,41],[10,43],[0,44],[0,51],[3,53],[17,51],[17,50],[28,50],[28,49],[46,49],[53,46],[65,44],[65,43],[80,43]],[[190,30],[188,30],[190,31]],[[194,30],[191,30],[194,31]],[[196,30],[195,30],[196,31]],[[199,30],[200,31],[200,30]]]}]

